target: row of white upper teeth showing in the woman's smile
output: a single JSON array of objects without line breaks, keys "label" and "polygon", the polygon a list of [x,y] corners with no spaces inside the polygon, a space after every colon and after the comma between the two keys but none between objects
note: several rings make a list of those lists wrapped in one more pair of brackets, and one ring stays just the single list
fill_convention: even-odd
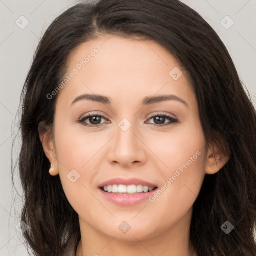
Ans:
[{"label": "row of white upper teeth showing in the woman's smile", "polygon": [[154,187],[148,187],[143,185],[108,185],[104,186],[104,191],[108,193],[146,193],[151,192],[154,189]]}]

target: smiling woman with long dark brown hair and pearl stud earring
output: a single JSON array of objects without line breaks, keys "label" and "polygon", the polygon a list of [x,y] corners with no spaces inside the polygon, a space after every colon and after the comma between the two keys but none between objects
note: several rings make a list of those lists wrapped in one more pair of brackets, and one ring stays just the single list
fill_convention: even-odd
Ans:
[{"label": "smiling woman with long dark brown hair and pearl stud earring", "polygon": [[255,255],[255,109],[197,12],[73,6],[45,32],[22,95],[34,255]]}]

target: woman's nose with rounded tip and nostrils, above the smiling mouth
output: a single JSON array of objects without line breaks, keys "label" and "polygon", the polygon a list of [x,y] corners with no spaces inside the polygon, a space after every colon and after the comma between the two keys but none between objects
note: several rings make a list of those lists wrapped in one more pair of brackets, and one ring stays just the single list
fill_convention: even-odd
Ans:
[{"label": "woman's nose with rounded tip and nostrils, above the smiling mouth", "polygon": [[143,136],[139,134],[134,129],[134,125],[126,131],[116,128],[116,135],[113,137],[108,153],[110,164],[129,168],[134,164],[139,166],[146,162],[146,146],[142,142]]}]

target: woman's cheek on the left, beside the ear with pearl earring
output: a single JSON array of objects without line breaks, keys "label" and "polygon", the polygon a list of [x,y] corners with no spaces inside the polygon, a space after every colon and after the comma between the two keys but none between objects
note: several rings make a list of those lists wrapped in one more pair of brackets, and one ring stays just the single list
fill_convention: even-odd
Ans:
[{"label": "woman's cheek on the left, beside the ear with pearl earring", "polygon": [[76,132],[71,125],[56,123],[54,142],[59,176],[66,197],[76,210],[81,204],[81,196],[85,198],[91,190],[90,181],[97,174],[93,156],[104,141],[100,143],[96,136]]}]

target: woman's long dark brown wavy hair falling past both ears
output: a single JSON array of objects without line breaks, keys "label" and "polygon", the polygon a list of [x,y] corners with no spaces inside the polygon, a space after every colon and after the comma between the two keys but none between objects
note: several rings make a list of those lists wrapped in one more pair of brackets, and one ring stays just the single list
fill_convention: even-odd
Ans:
[{"label": "woman's long dark brown wavy hair falling past both ears", "polygon": [[[22,90],[19,173],[28,246],[39,256],[72,255],[81,238],[78,215],[59,175],[48,173],[38,125],[53,123],[57,96],[46,95],[63,79],[70,52],[102,33],[154,40],[187,71],[207,145],[217,143],[230,154],[219,172],[205,175],[193,205],[191,244],[202,256],[213,255],[211,248],[218,256],[255,255],[255,109],[216,32],[178,0],[80,3],[57,17],[43,35]],[[227,220],[234,225],[229,234],[220,228]]]}]

